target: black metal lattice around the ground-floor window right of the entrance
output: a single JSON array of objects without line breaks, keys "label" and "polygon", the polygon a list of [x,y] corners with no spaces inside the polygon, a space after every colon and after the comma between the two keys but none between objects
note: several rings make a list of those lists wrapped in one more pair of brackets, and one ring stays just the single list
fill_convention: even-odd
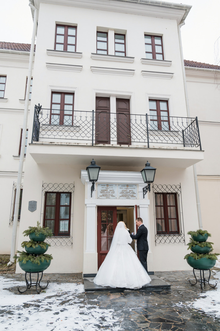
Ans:
[{"label": "black metal lattice around the ground-floor window right of the entrance", "polygon": [[[157,233],[156,225],[156,206],[155,206],[155,193],[176,193],[177,194],[177,209],[179,215],[179,233]],[[184,224],[183,224],[183,212],[182,212],[182,195],[181,195],[181,185],[153,185],[153,200],[154,200],[154,231],[155,231],[155,245],[156,244],[174,244],[174,243],[184,243]]]}]

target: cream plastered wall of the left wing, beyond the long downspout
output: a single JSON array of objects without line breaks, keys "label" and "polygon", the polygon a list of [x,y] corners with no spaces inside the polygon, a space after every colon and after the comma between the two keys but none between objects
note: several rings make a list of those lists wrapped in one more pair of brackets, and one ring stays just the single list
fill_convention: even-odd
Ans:
[{"label": "cream plastered wall of the left wing, beyond the long downspout", "polygon": [[6,75],[4,99],[0,98],[1,254],[11,252],[12,225],[9,225],[9,220],[12,216],[13,183],[17,181],[28,62],[28,52],[9,54],[0,50],[0,75]]}]

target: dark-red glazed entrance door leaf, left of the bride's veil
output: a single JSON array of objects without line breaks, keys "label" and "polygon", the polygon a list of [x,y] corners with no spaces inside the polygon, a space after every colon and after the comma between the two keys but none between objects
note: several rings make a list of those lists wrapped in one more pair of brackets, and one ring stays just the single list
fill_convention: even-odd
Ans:
[{"label": "dark-red glazed entrance door leaf, left of the bride's veil", "polygon": [[97,221],[98,269],[109,252],[117,225],[117,207],[98,207]]}]

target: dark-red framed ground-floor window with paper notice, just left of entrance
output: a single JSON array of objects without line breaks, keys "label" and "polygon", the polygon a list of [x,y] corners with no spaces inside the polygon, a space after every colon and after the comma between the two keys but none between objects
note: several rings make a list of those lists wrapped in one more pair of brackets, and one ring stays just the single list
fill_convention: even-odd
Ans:
[{"label": "dark-red framed ground-floor window with paper notice, just left of entrance", "polygon": [[71,193],[46,192],[44,226],[55,236],[70,234]]}]

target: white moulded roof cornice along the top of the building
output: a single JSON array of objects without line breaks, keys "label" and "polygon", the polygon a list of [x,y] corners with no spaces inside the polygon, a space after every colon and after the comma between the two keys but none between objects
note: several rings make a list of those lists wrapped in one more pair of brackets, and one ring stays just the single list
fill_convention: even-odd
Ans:
[{"label": "white moulded roof cornice along the top of the building", "polygon": [[37,8],[40,3],[166,18],[176,20],[177,24],[186,19],[192,7],[157,0],[34,0]]}]

